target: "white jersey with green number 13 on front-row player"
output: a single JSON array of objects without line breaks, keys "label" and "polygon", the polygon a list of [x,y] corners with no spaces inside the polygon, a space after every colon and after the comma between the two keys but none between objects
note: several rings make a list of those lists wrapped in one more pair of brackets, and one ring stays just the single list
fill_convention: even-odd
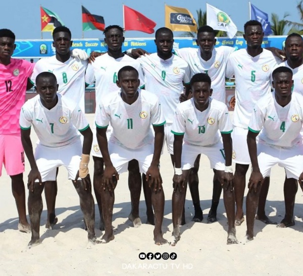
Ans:
[{"label": "white jersey with green number 13 on front-row player", "polygon": [[203,112],[196,109],[193,98],[178,105],[171,131],[184,135],[184,143],[196,146],[211,146],[220,141],[221,133],[232,132],[232,124],[225,104],[210,98]]}]

